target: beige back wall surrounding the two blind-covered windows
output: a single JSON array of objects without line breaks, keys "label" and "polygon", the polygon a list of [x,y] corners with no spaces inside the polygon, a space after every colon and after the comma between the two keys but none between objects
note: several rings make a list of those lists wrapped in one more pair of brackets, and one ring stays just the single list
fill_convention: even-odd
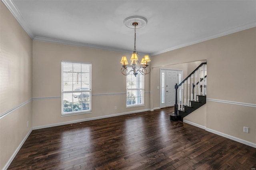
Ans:
[{"label": "beige back wall surrounding the two blind-covered windows", "polygon": [[[120,73],[123,55],[131,54],[33,41],[33,98],[40,98],[33,100],[33,127],[150,109],[150,93],[145,93],[144,106],[132,108],[126,108],[125,94],[117,94],[126,93],[126,76]],[[62,60],[92,63],[92,113],[61,117]]]}]

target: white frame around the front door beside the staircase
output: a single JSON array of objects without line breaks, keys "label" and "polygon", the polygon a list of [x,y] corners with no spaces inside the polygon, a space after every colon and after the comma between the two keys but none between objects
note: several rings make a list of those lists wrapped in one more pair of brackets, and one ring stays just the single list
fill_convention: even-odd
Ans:
[{"label": "white frame around the front door beside the staircase", "polygon": [[[182,69],[164,69],[160,68],[160,88],[159,88],[159,107],[164,108],[166,107],[166,95],[164,96],[164,104],[162,103],[162,71],[165,71],[165,81],[164,81],[164,91],[166,91],[166,70],[172,70],[172,71],[178,71],[178,73],[181,71],[181,81],[183,81],[183,70]],[[177,75],[177,80],[178,80],[178,75]],[[164,105],[164,106],[163,106]]]}]

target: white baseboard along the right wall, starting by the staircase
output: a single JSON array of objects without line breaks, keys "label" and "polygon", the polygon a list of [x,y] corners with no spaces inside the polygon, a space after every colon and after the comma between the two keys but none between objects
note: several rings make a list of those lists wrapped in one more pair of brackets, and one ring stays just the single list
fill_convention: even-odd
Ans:
[{"label": "white baseboard along the right wall, starting by the staircase", "polygon": [[239,143],[242,143],[242,144],[246,144],[246,145],[248,145],[248,146],[252,146],[252,147],[256,148],[256,144],[255,144],[255,143],[249,142],[249,141],[247,141],[247,140],[243,140],[243,139],[240,139],[240,138],[231,136],[231,135],[229,135],[229,134],[225,134],[225,133],[222,133],[222,132],[218,132],[218,131],[216,131],[216,130],[212,130],[212,129],[210,129],[210,128],[206,128],[206,127],[204,127],[204,126],[202,126],[202,125],[198,125],[198,124],[193,123],[193,122],[190,122],[190,121],[183,120],[183,122],[184,122],[184,123],[187,123],[187,124],[190,124],[190,125],[193,125],[193,126],[195,126],[195,127],[202,128],[202,129],[204,129],[204,130],[206,130],[206,131],[208,131],[208,132],[212,132],[212,133],[214,133],[214,134],[218,134],[218,135],[223,136],[223,137],[225,137],[225,138],[234,140],[234,141],[236,141],[236,142],[239,142]]}]

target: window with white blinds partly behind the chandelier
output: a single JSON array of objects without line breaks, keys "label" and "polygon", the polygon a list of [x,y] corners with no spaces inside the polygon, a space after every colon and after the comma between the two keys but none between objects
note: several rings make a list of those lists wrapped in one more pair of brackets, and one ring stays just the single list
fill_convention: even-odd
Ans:
[{"label": "window with white blinds partly behind the chandelier", "polygon": [[[127,67],[128,71],[132,67]],[[126,107],[144,105],[144,76],[138,73],[126,76]]]}]

